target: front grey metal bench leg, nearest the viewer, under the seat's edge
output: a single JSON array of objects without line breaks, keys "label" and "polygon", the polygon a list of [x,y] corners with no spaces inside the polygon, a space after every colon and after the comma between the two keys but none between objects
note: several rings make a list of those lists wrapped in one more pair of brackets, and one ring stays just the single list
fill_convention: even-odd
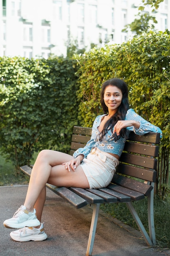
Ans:
[{"label": "front grey metal bench leg, nearest the viewer, under the seat's edge", "polygon": [[95,238],[95,234],[96,234],[96,227],[97,227],[97,221],[98,221],[99,208],[100,208],[100,204],[94,205],[86,256],[92,256],[94,238]]}]

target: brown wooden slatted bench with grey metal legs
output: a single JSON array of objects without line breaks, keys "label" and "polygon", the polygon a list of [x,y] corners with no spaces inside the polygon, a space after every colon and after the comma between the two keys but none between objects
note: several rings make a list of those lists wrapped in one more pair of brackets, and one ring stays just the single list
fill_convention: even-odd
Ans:
[{"label": "brown wooden slatted bench with grey metal legs", "polygon": [[[92,128],[74,126],[70,154],[80,147],[84,147],[90,139]],[[112,182],[102,189],[81,189],[56,187],[50,184],[46,186],[61,198],[72,204],[77,209],[87,204],[94,204],[92,222],[89,231],[89,240],[86,256],[92,255],[96,225],[98,221],[100,204],[126,203],[142,236],[148,246],[156,244],[153,216],[154,185],[157,176],[157,156],[159,151],[160,134],[150,132],[138,136],[131,132],[126,141],[124,151],[120,157]],[[26,175],[31,175],[29,166],[20,167]],[[146,232],[132,202],[148,198],[148,228]],[[106,231],[107,232],[107,231]]]}]

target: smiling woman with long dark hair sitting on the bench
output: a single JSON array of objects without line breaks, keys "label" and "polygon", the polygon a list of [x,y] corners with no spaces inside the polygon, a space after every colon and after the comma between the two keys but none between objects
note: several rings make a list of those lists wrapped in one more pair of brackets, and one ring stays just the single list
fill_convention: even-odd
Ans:
[{"label": "smiling woman with long dark hair sitting on the bench", "polygon": [[[118,78],[103,83],[100,101],[104,115],[96,117],[92,137],[73,156],[54,150],[42,150],[33,166],[24,205],[5,220],[16,241],[45,240],[41,214],[46,200],[46,182],[55,186],[102,188],[107,186],[119,164],[130,131],[138,135],[161,130],[129,109],[128,88]],[[35,210],[36,209],[36,210]]]}]

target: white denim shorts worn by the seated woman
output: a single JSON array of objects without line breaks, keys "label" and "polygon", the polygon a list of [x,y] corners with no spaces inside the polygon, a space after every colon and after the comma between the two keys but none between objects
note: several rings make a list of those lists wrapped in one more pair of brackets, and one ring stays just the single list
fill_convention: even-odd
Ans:
[{"label": "white denim shorts worn by the seated woman", "polygon": [[87,177],[90,189],[104,188],[111,182],[119,160],[109,153],[92,148],[87,158],[83,159],[81,167]]}]

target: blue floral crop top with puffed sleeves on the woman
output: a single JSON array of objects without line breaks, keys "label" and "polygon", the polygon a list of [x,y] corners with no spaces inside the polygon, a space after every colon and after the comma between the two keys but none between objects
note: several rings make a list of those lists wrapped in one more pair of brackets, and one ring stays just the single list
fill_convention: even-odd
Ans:
[{"label": "blue floral crop top with puffed sleeves on the woman", "polygon": [[[108,132],[100,141],[100,132],[98,131],[98,126],[100,125],[102,117],[104,116],[105,115],[99,115],[96,117],[92,127],[91,139],[87,142],[84,148],[79,148],[74,152],[73,156],[75,158],[80,154],[83,154],[86,158],[87,155],[90,153],[91,149],[94,147],[97,147],[99,150],[103,152],[116,154],[118,156],[122,154],[126,139],[120,137],[120,139],[115,141],[111,130],[108,130]],[[135,134],[137,135],[144,135],[148,132],[160,132],[160,136],[162,137],[162,132],[159,127],[150,124],[148,121],[140,117],[138,114],[135,113],[135,111],[132,108],[130,108],[127,111],[125,120],[135,120],[140,123],[139,129],[135,128],[134,126],[127,127],[127,135],[129,134],[130,131],[134,131]]]}]

